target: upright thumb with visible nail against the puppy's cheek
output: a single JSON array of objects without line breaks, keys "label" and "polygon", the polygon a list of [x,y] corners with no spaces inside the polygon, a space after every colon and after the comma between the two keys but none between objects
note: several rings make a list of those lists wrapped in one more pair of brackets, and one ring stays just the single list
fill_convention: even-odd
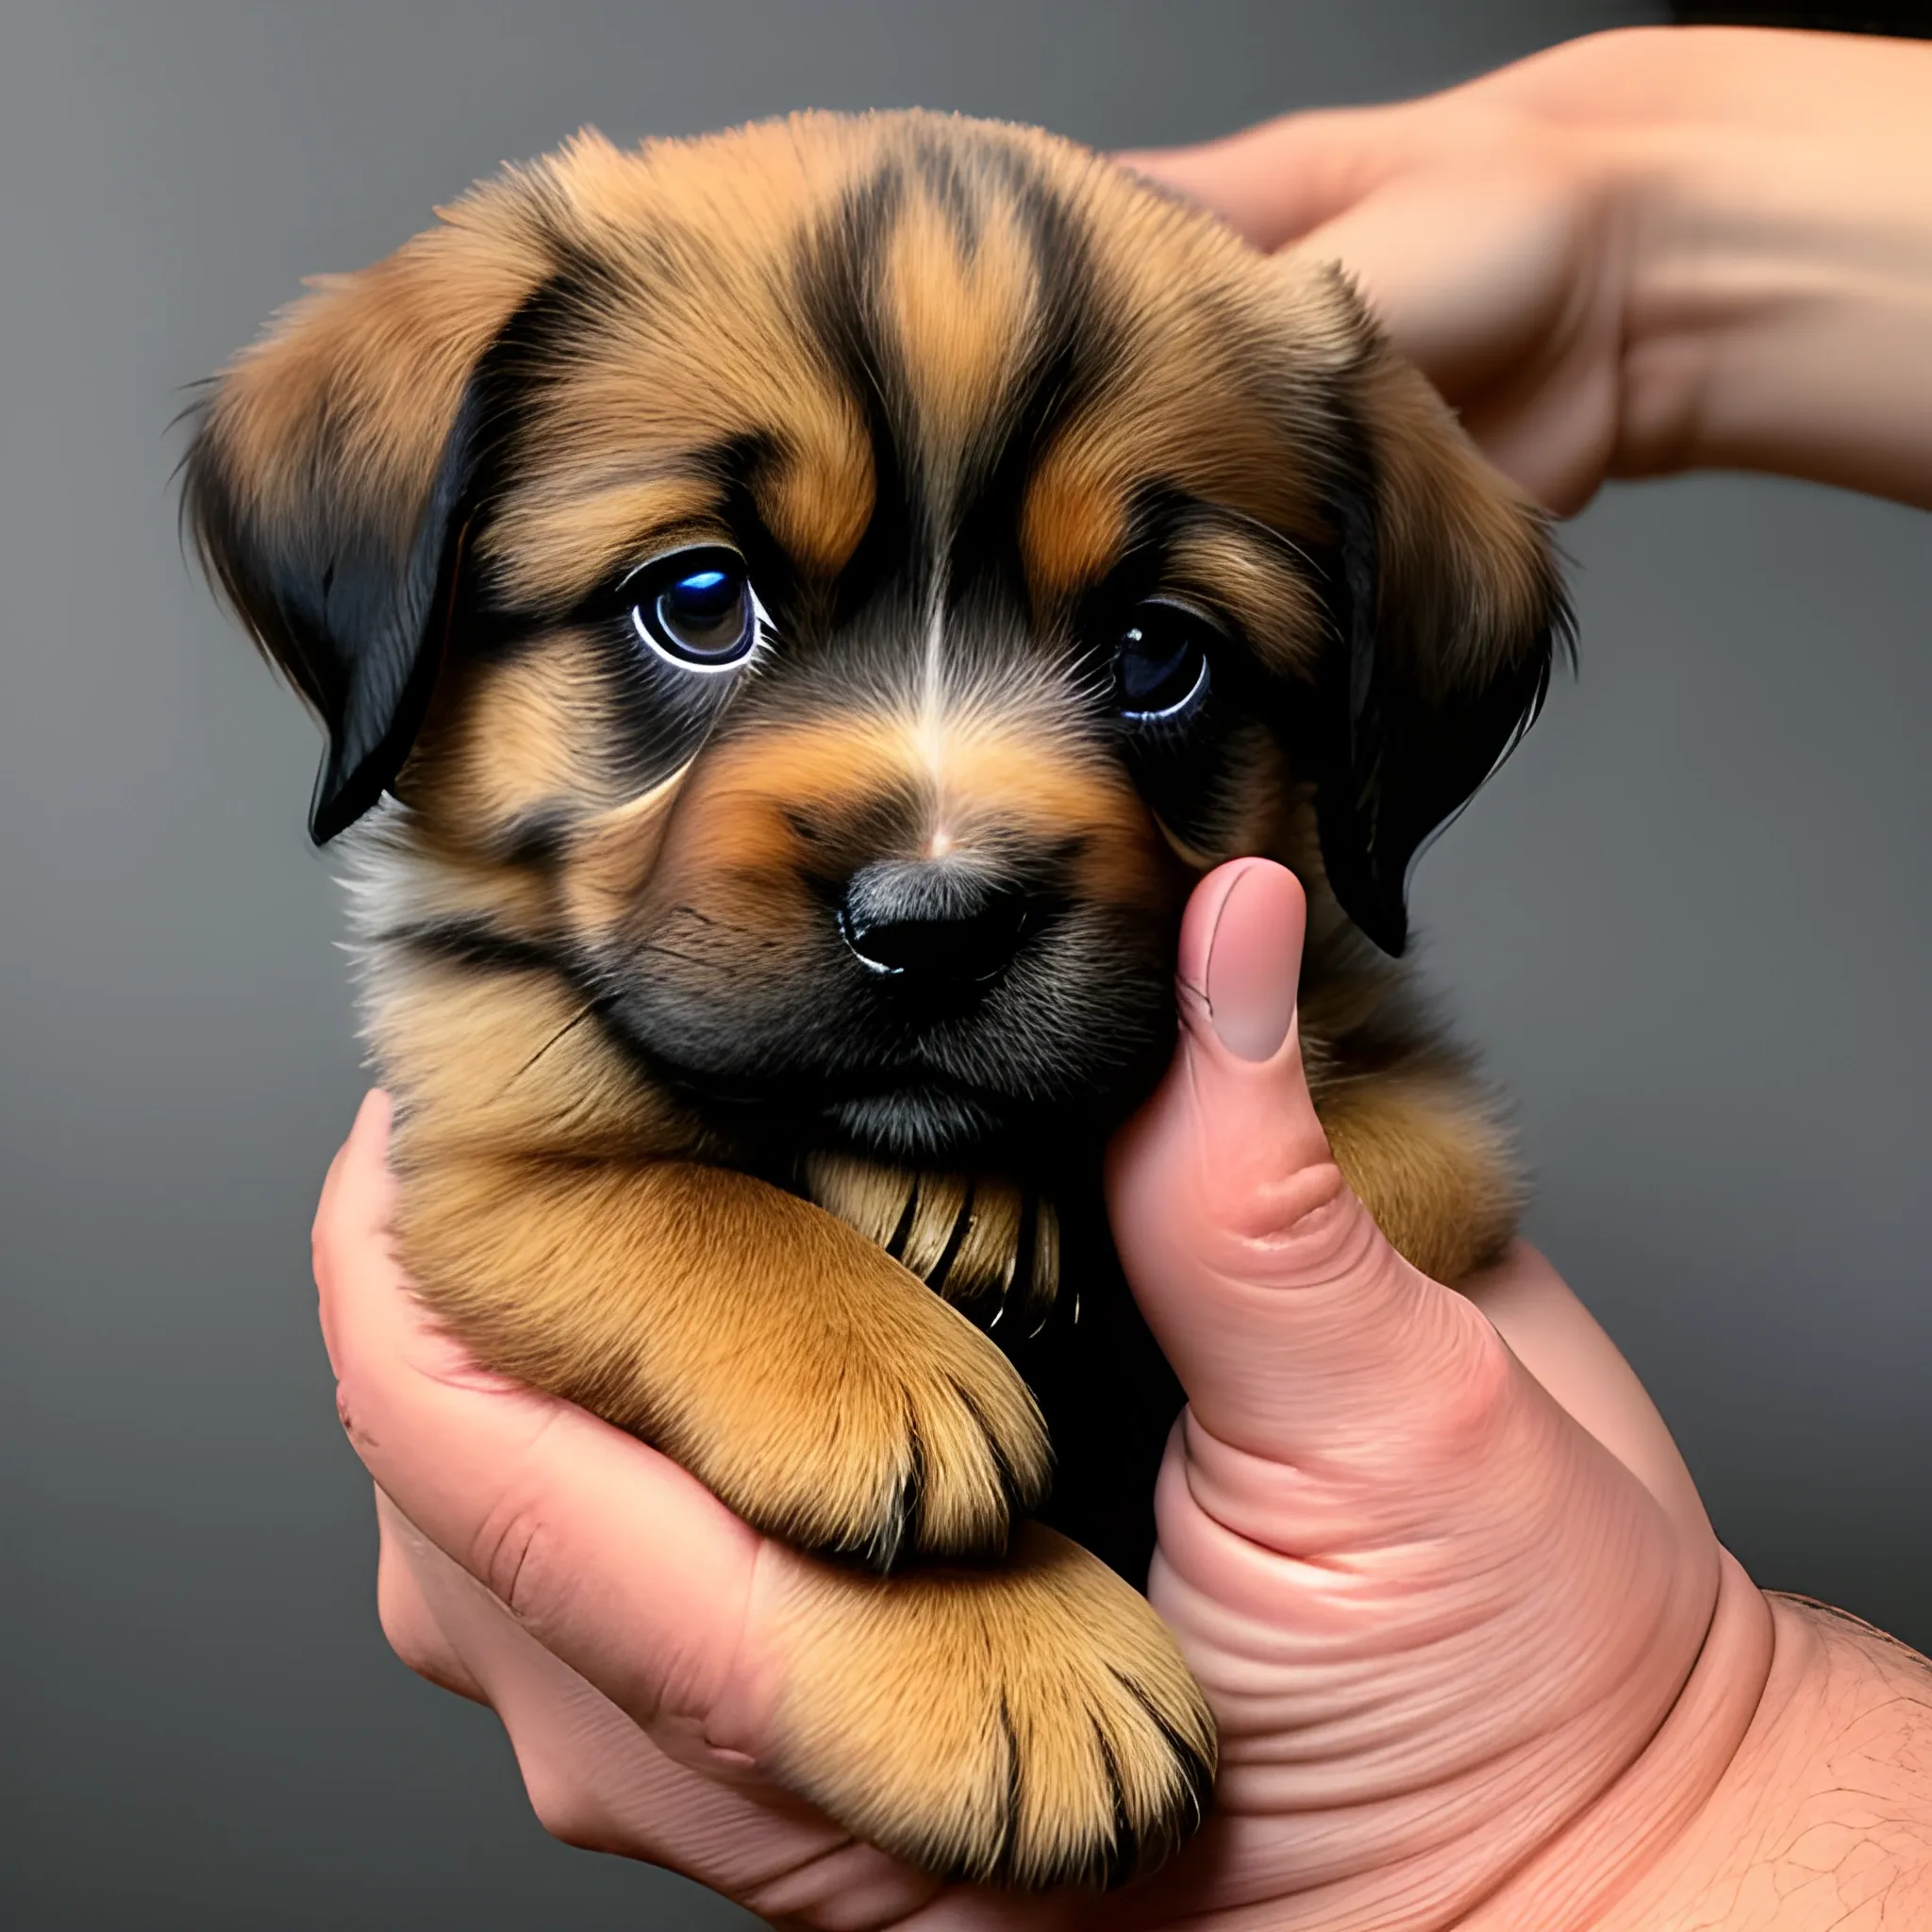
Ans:
[{"label": "upright thumb with visible nail against the puppy's cheek", "polygon": [[1294,991],[1306,900],[1238,860],[1180,931],[1180,1045],[1117,1138],[1121,1262],[1198,1426],[1271,1463],[1391,1457],[1509,1374],[1495,1329],[1387,1244],[1329,1153]]}]

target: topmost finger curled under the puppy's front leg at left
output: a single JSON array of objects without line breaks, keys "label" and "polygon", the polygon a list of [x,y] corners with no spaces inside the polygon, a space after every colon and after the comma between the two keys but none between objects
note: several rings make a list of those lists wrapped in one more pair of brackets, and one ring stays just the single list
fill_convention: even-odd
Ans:
[{"label": "topmost finger curled under the puppy's front leg at left", "polygon": [[[317,1219],[317,1287],[355,1453],[402,1515],[639,1723],[719,1725],[736,1762],[777,1698],[734,1677],[759,1538],[667,1457],[481,1372],[410,1294],[375,1219],[384,1111]],[[726,1735],[730,1733],[730,1735]]]}]

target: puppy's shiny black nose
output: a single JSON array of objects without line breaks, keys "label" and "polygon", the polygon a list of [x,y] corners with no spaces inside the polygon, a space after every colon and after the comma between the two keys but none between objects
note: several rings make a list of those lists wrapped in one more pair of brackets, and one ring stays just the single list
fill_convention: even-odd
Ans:
[{"label": "puppy's shiny black nose", "polygon": [[956,860],[862,866],[838,904],[858,962],[923,987],[995,980],[1034,923],[1032,895]]}]

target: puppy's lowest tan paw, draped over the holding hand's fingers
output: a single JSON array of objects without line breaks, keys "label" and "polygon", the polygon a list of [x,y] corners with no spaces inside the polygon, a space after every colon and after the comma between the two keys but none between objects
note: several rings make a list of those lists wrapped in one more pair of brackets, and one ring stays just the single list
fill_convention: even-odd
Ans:
[{"label": "puppy's lowest tan paw, draped over the holding hand's fingers", "polygon": [[1037,1524],[999,1571],[788,1584],[779,1772],[943,1878],[1122,1884],[1200,1822],[1213,1718],[1161,1619]]}]

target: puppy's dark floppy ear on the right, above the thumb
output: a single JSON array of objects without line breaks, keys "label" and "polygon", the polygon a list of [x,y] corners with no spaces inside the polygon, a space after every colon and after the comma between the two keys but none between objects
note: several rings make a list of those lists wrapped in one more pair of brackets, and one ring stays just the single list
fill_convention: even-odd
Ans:
[{"label": "puppy's dark floppy ear on the right, above the thumb", "polygon": [[1337,647],[1310,757],[1321,862],[1385,952],[1408,943],[1408,875],[1536,721],[1571,612],[1548,518],[1492,469],[1424,377],[1329,270],[1350,344],[1329,475]]}]

